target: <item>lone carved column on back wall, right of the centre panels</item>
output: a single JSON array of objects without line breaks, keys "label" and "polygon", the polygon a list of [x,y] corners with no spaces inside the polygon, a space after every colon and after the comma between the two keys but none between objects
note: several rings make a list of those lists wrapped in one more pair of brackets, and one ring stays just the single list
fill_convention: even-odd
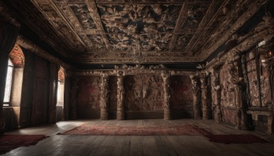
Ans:
[{"label": "lone carved column on back wall, right of the centre panels", "polygon": [[164,120],[171,120],[171,75],[169,73],[161,73],[162,79],[164,81],[163,88],[164,88]]}]

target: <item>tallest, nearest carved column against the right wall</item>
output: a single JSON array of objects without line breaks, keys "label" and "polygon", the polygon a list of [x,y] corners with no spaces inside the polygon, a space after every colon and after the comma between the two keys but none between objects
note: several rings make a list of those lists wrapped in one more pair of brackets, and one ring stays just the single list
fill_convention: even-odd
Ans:
[{"label": "tallest, nearest carved column against the right wall", "polygon": [[240,57],[234,57],[236,60],[229,62],[228,69],[229,73],[232,76],[230,81],[234,84],[234,94],[235,94],[235,103],[236,103],[236,129],[247,129],[247,115],[244,111],[244,97],[242,93],[242,86],[245,84],[244,78],[242,76],[242,69],[240,63]]}]

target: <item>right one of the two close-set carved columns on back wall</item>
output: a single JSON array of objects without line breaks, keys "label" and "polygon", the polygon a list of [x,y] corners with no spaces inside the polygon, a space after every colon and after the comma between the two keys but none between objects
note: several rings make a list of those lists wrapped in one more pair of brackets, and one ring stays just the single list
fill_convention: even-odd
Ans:
[{"label": "right one of the two close-set carved columns on back wall", "polygon": [[124,109],[124,79],[123,72],[119,72],[117,76],[117,120],[125,120]]}]

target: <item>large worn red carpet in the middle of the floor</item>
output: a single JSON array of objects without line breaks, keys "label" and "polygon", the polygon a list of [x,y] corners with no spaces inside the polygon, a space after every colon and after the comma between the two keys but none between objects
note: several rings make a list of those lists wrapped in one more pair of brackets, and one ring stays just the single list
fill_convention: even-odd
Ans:
[{"label": "large worn red carpet in the middle of the floor", "polygon": [[119,126],[97,126],[82,125],[58,133],[63,135],[207,135],[211,134],[205,129],[193,125],[180,126],[153,126],[153,127],[119,127]]}]

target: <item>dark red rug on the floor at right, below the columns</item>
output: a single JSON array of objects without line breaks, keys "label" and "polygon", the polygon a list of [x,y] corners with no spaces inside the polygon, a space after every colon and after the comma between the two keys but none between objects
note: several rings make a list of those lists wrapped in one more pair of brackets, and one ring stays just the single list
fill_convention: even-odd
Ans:
[{"label": "dark red rug on the floor at right, below the columns", "polygon": [[223,144],[251,144],[268,143],[268,141],[249,134],[230,134],[230,135],[204,135],[210,142]]}]

